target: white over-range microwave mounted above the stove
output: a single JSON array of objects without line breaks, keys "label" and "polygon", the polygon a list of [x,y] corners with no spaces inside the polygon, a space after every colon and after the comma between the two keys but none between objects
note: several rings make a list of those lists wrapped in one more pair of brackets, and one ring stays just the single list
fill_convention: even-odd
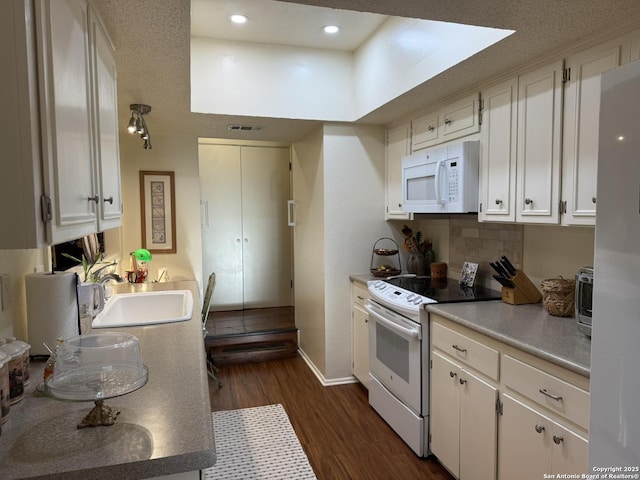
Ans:
[{"label": "white over-range microwave mounted above the stove", "polygon": [[477,212],[479,160],[479,141],[425,149],[403,157],[402,210]]}]

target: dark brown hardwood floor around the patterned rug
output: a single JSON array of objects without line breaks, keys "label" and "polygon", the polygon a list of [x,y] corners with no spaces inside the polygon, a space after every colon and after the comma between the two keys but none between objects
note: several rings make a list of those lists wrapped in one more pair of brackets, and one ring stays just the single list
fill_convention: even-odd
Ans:
[{"label": "dark brown hardwood floor around the patterned rug", "polygon": [[400,440],[360,384],[323,387],[299,356],[224,366],[218,377],[221,388],[209,381],[212,410],[282,404],[319,480],[453,479]]}]

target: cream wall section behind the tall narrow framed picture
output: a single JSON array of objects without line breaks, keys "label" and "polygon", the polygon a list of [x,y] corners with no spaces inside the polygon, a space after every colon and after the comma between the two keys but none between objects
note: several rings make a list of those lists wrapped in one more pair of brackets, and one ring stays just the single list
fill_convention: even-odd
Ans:
[{"label": "cream wall section behind the tall narrow framed picture", "polygon": [[202,285],[198,139],[153,135],[152,131],[151,140],[153,149],[144,150],[138,135],[120,135],[124,220],[121,228],[123,258],[119,271],[122,273],[129,265],[127,254],[142,246],[139,172],[173,171],[177,252],[153,254],[149,279],[157,279],[158,269],[166,267],[171,280],[197,280]]}]

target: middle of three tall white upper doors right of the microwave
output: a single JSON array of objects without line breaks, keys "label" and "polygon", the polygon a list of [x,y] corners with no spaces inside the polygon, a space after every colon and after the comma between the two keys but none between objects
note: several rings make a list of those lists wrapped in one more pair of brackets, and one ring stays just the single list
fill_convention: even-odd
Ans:
[{"label": "middle of three tall white upper doors right of the microwave", "polygon": [[559,220],[562,62],[518,79],[516,220]]}]

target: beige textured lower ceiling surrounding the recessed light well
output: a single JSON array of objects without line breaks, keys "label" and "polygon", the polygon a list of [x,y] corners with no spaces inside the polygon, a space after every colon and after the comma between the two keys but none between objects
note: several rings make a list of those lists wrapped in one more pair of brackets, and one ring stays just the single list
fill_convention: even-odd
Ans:
[{"label": "beige textured lower ceiling surrounding the recessed light well", "polygon": [[[93,0],[116,47],[122,128],[130,103],[147,103],[153,133],[291,142],[317,123],[190,112],[189,0]],[[297,0],[297,4],[510,28],[514,35],[371,112],[388,124],[433,101],[539,59],[594,33],[640,19],[638,0]],[[228,124],[259,124],[229,132]]]}]

